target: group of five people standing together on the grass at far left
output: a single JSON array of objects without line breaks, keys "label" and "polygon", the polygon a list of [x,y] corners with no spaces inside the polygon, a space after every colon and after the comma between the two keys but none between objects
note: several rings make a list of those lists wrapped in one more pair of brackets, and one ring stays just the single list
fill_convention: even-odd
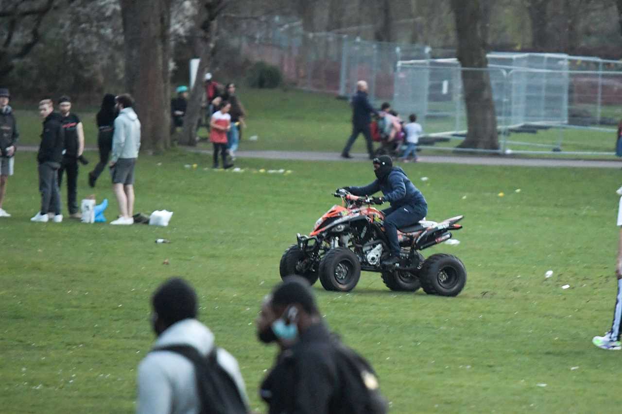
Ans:
[{"label": "group of five people standing together on the grass at far left", "polygon": [[[2,208],[2,202],[8,177],[14,172],[14,154],[19,138],[9,99],[9,90],[0,88],[0,217],[11,216]],[[95,186],[106,165],[110,167],[113,191],[119,204],[119,218],[111,224],[134,223],[134,166],[141,145],[141,123],[132,109],[133,104],[129,94],[106,94],[96,118],[100,160],[95,169],[88,173],[88,184]],[[72,112],[72,100],[68,96],[61,96],[57,105],[58,112],[55,112],[52,99],[39,102],[39,115],[43,120],[37,152],[41,207],[30,219],[39,223],[49,219],[55,223],[63,221],[59,187],[65,175],[69,217],[81,218],[77,203],[78,165],[88,164],[83,156],[83,124],[80,117]],[[112,157],[108,162],[110,154]]]}]

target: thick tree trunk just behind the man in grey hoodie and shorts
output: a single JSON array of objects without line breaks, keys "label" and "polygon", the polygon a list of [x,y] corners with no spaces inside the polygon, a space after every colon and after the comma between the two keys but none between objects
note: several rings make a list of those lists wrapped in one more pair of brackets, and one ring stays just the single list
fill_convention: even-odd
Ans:
[{"label": "thick tree trunk just behind the man in grey hoodie and shorts", "polygon": [[136,101],[143,147],[169,146],[170,0],[121,0],[125,37],[126,88]]}]

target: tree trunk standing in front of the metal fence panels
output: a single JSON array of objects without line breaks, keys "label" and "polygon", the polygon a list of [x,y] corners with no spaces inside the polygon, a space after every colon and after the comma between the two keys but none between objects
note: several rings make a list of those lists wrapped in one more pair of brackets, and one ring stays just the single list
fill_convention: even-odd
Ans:
[{"label": "tree trunk standing in front of the metal fence panels", "polygon": [[493,88],[486,68],[486,50],[481,38],[480,1],[452,0],[458,38],[458,60],[462,64],[462,84],[468,131],[460,148],[499,149]]}]

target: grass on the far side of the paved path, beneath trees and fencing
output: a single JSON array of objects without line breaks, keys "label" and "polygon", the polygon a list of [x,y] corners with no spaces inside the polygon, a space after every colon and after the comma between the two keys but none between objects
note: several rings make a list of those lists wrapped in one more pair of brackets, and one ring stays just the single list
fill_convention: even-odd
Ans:
[{"label": "grass on the far side of the paved path, beneath trees and fencing", "polygon": [[[347,101],[335,99],[322,93],[309,93],[290,90],[242,90],[240,99],[248,110],[248,129],[244,131],[240,149],[243,150],[300,150],[340,152],[351,132],[351,109]],[[22,144],[37,145],[40,136],[40,121],[35,108],[20,106],[16,110],[21,129]],[[81,116],[85,127],[86,144],[97,145],[95,113],[93,108],[82,110],[74,105],[75,112]],[[407,114],[406,114],[407,115]],[[466,124],[461,119],[460,124]],[[453,131],[453,118],[430,118],[424,125],[425,132]],[[204,128],[200,136],[206,137]],[[257,136],[258,140],[248,140]],[[499,137],[501,140],[502,138]],[[542,157],[555,156],[551,147],[562,143],[564,151],[613,152],[615,132],[583,131],[577,129],[549,129],[537,134],[511,134],[506,148],[516,150],[542,150]],[[526,144],[516,144],[521,142]],[[460,140],[442,142],[436,147],[455,147]],[[550,147],[538,147],[529,144],[544,144]],[[200,144],[211,148],[208,143]],[[353,152],[366,152],[363,137],[359,137]],[[422,154],[450,154],[447,150],[425,149]],[[577,157],[577,155],[572,155]],[[587,157],[585,155],[584,157]],[[602,158],[602,157],[601,157]],[[615,158],[613,156],[608,158]]]}]

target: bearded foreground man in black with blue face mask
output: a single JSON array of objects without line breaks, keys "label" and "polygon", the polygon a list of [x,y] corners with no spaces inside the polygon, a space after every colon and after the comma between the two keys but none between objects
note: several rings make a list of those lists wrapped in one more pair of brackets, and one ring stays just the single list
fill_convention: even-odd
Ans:
[{"label": "bearded foreground man in black with blue face mask", "polygon": [[[264,299],[256,324],[259,341],[280,347],[259,389],[269,414],[358,412],[348,398],[364,400],[364,394],[348,392],[353,389],[346,385],[351,377],[344,369],[345,346],[323,323],[307,280],[285,278]],[[378,382],[368,369],[372,384],[366,387],[375,389]]]}]

